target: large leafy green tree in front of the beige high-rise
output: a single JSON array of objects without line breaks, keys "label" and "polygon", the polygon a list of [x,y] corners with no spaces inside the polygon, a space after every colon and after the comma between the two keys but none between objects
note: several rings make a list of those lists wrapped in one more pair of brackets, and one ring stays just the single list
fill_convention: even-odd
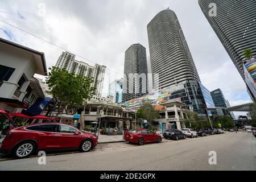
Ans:
[{"label": "large leafy green tree in front of the beige high-rise", "polygon": [[[96,88],[91,86],[93,79],[82,75],[69,73],[65,69],[56,67],[51,68],[46,84],[48,84],[50,93],[58,105],[58,112],[64,109],[68,114],[68,109],[72,110],[72,114],[76,113],[79,106],[86,103],[92,97]],[[56,103],[55,103],[56,104]]]}]

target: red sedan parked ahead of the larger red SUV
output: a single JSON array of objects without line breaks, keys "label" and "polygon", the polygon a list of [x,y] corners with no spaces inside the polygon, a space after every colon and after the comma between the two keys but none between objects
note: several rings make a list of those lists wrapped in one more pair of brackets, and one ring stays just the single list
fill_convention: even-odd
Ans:
[{"label": "red sedan parked ahead of the larger red SUV", "polygon": [[160,134],[156,134],[154,131],[139,129],[139,130],[130,130],[125,133],[125,140],[138,143],[140,146],[144,143],[149,142],[161,142],[162,137]]}]

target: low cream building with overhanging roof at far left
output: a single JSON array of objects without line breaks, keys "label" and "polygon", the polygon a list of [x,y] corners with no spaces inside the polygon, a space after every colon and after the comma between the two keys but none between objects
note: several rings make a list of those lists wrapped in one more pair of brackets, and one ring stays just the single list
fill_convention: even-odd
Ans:
[{"label": "low cream building with overhanging roof at far left", "polygon": [[0,38],[0,109],[20,112],[45,98],[35,73],[47,76],[44,53]]}]

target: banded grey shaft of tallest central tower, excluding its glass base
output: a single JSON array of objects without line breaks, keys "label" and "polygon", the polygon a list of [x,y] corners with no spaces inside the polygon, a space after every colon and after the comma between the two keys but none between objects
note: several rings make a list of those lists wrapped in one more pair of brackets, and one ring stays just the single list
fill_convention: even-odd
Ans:
[{"label": "banded grey shaft of tallest central tower, excluding its glass base", "polygon": [[[200,78],[174,11],[160,11],[147,25],[153,85],[167,88]],[[156,84],[156,74],[159,74]]]}]

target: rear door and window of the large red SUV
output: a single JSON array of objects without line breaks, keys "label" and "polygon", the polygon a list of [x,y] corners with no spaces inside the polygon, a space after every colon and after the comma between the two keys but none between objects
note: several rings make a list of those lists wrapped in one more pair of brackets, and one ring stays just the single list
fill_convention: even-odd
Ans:
[{"label": "rear door and window of the large red SUV", "polygon": [[57,125],[35,125],[25,128],[26,130],[34,133],[35,139],[38,142],[39,149],[53,149],[58,148],[59,144],[55,138],[57,132]]}]

